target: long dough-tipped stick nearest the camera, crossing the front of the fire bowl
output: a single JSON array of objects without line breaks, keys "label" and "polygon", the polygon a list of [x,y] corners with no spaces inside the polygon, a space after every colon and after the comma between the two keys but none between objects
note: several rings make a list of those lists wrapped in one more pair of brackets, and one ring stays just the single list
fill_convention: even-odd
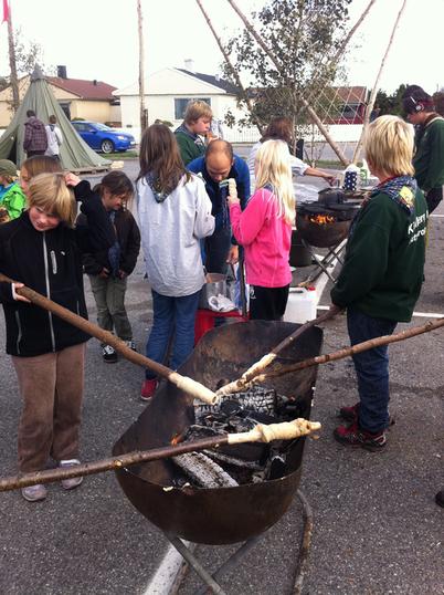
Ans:
[{"label": "long dough-tipped stick nearest the camera, crossing the front of the fire bowl", "polygon": [[125,469],[133,464],[141,462],[156,461],[177,457],[186,452],[205,450],[209,448],[218,448],[222,445],[239,445],[243,442],[269,442],[272,440],[294,440],[302,436],[309,436],[313,432],[320,430],[321,426],[317,421],[308,421],[307,419],[294,419],[284,424],[271,424],[265,426],[260,424],[251,431],[241,434],[228,434],[212,438],[201,438],[190,442],[182,442],[176,446],[166,446],[154,448],[151,450],[135,450],[127,452],[120,457],[110,457],[98,461],[76,464],[70,468],[47,469],[45,471],[36,471],[34,473],[24,473],[21,476],[12,476],[0,479],[0,492],[19,490],[28,486],[36,483],[52,483],[62,479],[71,479],[83,476],[93,476],[105,471],[116,471]]}]

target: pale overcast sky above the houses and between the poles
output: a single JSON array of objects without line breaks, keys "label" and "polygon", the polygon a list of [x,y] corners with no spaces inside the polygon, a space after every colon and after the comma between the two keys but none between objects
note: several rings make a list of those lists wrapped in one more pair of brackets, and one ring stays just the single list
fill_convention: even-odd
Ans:
[{"label": "pale overcast sky above the houses and between the poles", "polygon": [[[138,43],[136,0],[10,0],[14,27],[38,41],[49,64],[65,64],[68,76],[97,79],[123,87],[137,80]],[[263,0],[239,0],[245,12]],[[401,0],[377,0],[356,38],[358,48],[347,69],[350,84],[372,85]],[[224,0],[203,0],[222,34],[241,28]],[[368,0],[353,0],[351,22]],[[195,70],[215,74],[219,48],[194,0],[142,0],[146,71],[183,66],[193,59]],[[421,12],[420,12],[421,11]],[[444,0],[408,0],[381,87],[391,91],[403,82],[433,92],[444,85],[442,23]],[[7,25],[0,29],[0,74],[8,74]]]}]

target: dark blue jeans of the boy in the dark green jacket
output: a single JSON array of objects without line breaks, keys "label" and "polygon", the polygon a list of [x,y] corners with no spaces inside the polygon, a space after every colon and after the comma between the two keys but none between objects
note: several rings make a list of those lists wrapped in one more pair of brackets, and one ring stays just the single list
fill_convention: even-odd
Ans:
[{"label": "dark blue jeans of the boy in the dark green jacket", "polygon": [[[391,335],[395,321],[373,319],[359,310],[347,310],[347,326],[351,345],[382,335]],[[389,426],[389,352],[382,345],[353,355],[358,377],[359,426],[379,432]]]}]

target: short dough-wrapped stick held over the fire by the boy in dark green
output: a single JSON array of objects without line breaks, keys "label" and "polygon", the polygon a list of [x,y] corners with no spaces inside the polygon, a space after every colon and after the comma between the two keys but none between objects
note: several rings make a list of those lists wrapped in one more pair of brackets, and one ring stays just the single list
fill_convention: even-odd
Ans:
[{"label": "short dough-wrapped stick held over the fire by the boy in dark green", "polygon": [[216,395],[223,396],[230,395],[232,393],[240,393],[241,390],[244,390],[247,386],[251,386],[253,378],[260,376],[263,370],[275,361],[277,354],[292,345],[292,343],[294,343],[296,338],[300,337],[300,335],[308,331],[308,328],[311,328],[311,326],[315,326],[316,324],[320,324],[325,321],[328,321],[329,319],[332,319],[337,313],[337,310],[328,310],[326,313],[321,314],[317,319],[308,321],[302,326],[299,326],[299,328],[297,328],[294,333],[284,338],[284,341],[276,345],[276,347],[274,347],[269,353],[261,357],[258,362],[255,362],[252,366],[250,366],[249,369],[244,372],[240,378],[226,384],[225,386],[222,386],[216,392]]}]

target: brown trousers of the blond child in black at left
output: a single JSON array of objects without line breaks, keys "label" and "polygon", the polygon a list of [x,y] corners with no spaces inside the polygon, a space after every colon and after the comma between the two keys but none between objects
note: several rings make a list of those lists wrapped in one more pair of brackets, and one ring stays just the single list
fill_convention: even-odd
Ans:
[{"label": "brown trousers of the blond child in black at left", "polygon": [[54,460],[78,458],[85,344],[35,357],[12,357],[23,409],[19,469],[40,471]]}]

